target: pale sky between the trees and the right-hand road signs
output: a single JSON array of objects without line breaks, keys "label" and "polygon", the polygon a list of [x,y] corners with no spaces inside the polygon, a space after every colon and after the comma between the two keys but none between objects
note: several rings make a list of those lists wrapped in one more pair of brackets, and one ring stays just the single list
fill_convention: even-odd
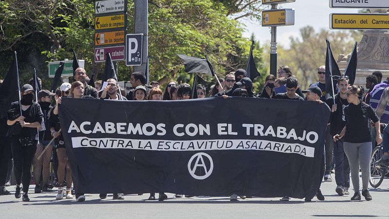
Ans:
[{"label": "pale sky between the trees and the right-hand road signs", "polygon": [[[331,13],[357,13],[358,9],[330,8],[329,0],[296,0],[296,2],[279,4],[278,8],[292,8],[295,10],[295,25],[277,27],[277,45],[289,48],[289,37],[299,37],[300,28],[310,25],[318,31],[322,28],[329,30]],[[247,27],[244,37],[254,33],[256,40],[263,43],[271,40],[270,27],[262,27],[260,21],[241,20]],[[337,30],[331,30],[337,31]],[[268,44],[270,47],[270,44]]]}]

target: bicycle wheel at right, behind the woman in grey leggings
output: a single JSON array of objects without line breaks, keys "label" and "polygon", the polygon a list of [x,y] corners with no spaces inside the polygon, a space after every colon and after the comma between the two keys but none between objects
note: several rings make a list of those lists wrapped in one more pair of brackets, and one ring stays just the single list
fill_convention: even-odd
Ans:
[{"label": "bicycle wheel at right, behind the woman in grey leggings", "polygon": [[377,161],[382,157],[381,146],[376,146],[371,152],[370,157],[370,180],[369,183],[373,188],[380,186],[385,177],[385,168],[377,165]]}]

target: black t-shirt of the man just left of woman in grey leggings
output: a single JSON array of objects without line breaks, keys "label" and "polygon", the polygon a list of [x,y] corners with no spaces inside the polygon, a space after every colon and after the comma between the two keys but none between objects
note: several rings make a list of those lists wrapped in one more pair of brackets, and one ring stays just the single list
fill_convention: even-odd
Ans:
[{"label": "black t-shirt of the man just left of woman in grey leggings", "polygon": [[[327,99],[326,101],[327,105],[332,109],[332,105],[334,105],[333,97]],[[344,108],[349,105],[349,102],[347,102],[347,99],[340,98],[339,94],[335,95],[335,103],[337,105],[336,111],[331,112],[329,123],[330,125],[330,133],[332,136],[336,135],[346,125],[346,118],[344,116]]]}]

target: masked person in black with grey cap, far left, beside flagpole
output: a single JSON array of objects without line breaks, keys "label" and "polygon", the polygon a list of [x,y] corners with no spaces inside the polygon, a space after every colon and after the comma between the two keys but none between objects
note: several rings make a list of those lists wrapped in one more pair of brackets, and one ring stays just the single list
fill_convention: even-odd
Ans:
[{"label": "masked person in black with grey cap, far left, beside flagpole", "polygon": [[22,201],[30,201],[28,189],[31,182],[31,165],[36,151],[38,129],[41,127],[43,113],[39,104],[34,102],[34,88],[29,84],[21,88],[20,102],[14,102],[8,111],[8,135],[11,136],[11,150],[14,158],[16,179],[15,198],[20,198],[23,185]]}]

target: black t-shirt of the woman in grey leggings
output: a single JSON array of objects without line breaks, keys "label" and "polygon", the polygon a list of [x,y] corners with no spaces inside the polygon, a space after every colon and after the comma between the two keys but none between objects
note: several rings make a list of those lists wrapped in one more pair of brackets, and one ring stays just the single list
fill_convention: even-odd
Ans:
[{"label": "black t-shirt of the woman in grey leggings", "polygon": [[369,104],[361,102],[359,105],[349,104],[344,108],[346,117],[346,133],[344,141],[350,143],[371,142],[369,119],[374,123],[378,116]]}]

